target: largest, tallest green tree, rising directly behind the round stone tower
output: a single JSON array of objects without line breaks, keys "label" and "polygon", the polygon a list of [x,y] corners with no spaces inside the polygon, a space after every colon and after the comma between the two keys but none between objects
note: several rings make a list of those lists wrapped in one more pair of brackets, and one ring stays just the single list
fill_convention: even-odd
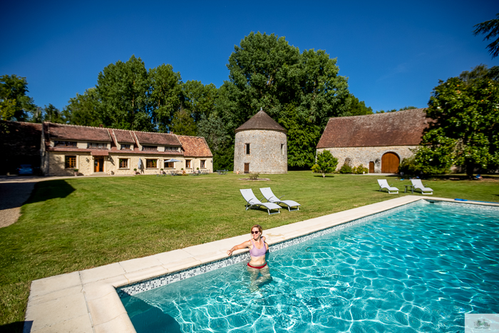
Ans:
[{"label": "largest, tallest green tree, rising directly behind the round stone tower", "polygon": [[227,133],[263,108],[289,130],[288,165],[311,167],[329,117],[348,112],[348,83],[338,75],[336,58],[322,50],[300,53],[284,37],[258,32],[235,46],[227,68],[230,80],[215,106]]}]

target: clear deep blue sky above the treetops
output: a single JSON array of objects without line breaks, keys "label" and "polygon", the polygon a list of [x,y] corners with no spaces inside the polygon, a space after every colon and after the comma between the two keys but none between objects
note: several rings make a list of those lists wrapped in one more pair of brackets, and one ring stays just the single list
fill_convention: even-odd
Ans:
[{"label": "clear deep blue sky above the treetops", "polygon": [[60,109],[133,54],[220,87],[234,46],[260,31],[337,58],[375,111],[423,108],[438,79],[499,66],[472,34],[498,12],[499,1],[4,1],[0,75],[26,77],[36,105]]}]

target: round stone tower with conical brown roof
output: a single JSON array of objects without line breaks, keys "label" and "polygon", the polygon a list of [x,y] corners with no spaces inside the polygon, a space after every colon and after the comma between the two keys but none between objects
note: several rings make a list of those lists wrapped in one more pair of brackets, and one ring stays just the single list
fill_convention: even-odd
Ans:
[{"label": "round stone tower with conical brown roof", "polygon": [[260,109],[236,129],[234,172],[287,173],[286,133]]}]

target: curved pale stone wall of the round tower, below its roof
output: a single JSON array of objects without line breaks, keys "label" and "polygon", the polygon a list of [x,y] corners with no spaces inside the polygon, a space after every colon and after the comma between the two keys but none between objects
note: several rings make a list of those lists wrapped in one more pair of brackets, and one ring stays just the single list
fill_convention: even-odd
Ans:
[{"label": "curved pale stone wall of the round tower, below its roof", "polygon": [[[249,143],[249,155],[245,144]],[[282,149],[281,149],[282,145]],[[287,173],[287,137],[276,130],[242,130],[236,133],[234,172]]]}]

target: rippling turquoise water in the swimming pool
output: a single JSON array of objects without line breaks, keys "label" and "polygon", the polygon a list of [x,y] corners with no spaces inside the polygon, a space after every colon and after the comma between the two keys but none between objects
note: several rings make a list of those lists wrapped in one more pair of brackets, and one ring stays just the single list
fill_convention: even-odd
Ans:
[{"label": "rippling turquoise water in the swimming pool", "polygon": [[[249,236],[248,236],[249,238]],[[464,332],[499,313],[499,210],[421,201],[122,302],[142,332]]]}]

